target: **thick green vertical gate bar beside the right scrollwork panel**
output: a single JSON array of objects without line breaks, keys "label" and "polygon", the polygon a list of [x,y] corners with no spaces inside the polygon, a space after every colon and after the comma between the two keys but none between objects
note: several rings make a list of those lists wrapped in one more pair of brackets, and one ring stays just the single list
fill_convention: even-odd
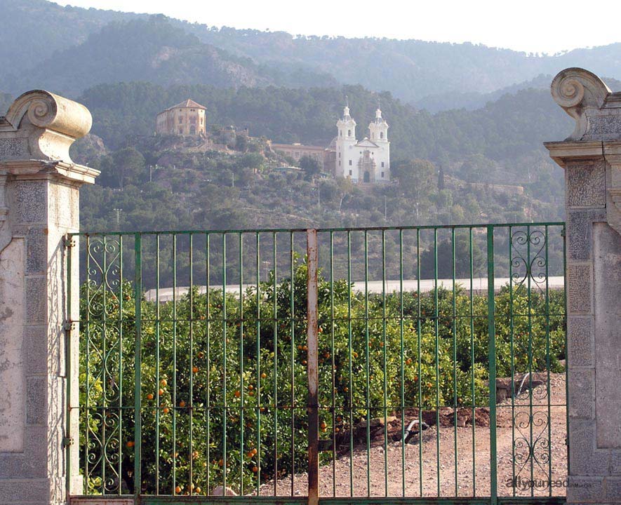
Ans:
[{"label": "thick green vertical gate bar beside the right scrollwork panel", "polygon": [[490,393],[490,505],[498,502],[498,458],[496,454],[496,328],[494,290],[494,227],[487,227],[487,282]]}]

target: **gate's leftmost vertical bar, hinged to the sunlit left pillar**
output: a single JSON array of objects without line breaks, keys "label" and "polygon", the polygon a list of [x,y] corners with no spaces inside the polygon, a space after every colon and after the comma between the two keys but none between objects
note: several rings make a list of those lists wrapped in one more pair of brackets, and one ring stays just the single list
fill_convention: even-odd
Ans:
[{"label": "gate's leftmost vertical bar, hinged to the sunlit left pillar", "polygon": [[[67,398],[66,398],[66,403],[65,403],[65,437],[67,438],[67,440],[71,440],[72,438],[72,429],[71,429],[71,410],[72,410],[72,404],[71,404],[71,398],[72,398],[72,387],[71,387],[71,382],[72,382],[72,366],[71,366],[71,362],[72,362],[72,344],[71,344],[71,340],[72,340],[72,330],[73,330],[73,325],[74,325],[74,321],[72,318],[72,254],[73,254],[73,236],[67,236],[65,238],[65,254],[67,255],[67,291],[65,292],[65,299],[67,300],[67,316],[65,317],[65,349],[66,349],[66,354],[67,357],[65,358],[65,381],[67,384]],[[78,316],[78,319],[80,319],[80,317]],[[78,334],[79,335],[79,334]],[[79,342],[79,340],[78,340]],[[79,349],[79,346],[78,346]],[[78,373],[79,373],[79,361],[78,361]],[[88,376],[86,377],[86,380],[88,381]],[[66,462],[66,467],[65,467],[65,472],[67,473],[67,476],[65,478],[65,492],[67,493],[67,496],[69,496],[70,492],[71,492],[71,469],[72,469],[72,457],[71,457],[71,446],[70,445],[66,445],[65,446],[65,462]],[[79,463],[79,462],[78,462]]]}]

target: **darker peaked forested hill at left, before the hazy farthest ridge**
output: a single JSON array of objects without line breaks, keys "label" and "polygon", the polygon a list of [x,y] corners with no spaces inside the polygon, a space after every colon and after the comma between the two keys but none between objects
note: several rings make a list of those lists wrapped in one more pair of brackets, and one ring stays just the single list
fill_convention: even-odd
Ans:
[{"label": "darker peaked forested hill at left, before the hazy farthest ridge", "polygon": [[269,72],[248,58],[202,43],[163,16],[111,22],[76,46],[60,50],[26,72],[9,72],[8,89],[48,88],[68,95],[99,83],[143,80],[169,86],[209,83],[218,87],[298,86],[305,79],[326,85],[318,74]]}]

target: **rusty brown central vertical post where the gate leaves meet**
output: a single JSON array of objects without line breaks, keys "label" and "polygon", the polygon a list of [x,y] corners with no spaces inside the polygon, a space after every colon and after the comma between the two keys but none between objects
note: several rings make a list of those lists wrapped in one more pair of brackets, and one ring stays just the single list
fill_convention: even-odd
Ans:
[{"label": "rusty brown central vertical post where the gate leaves meet", "polygon": [[307,238],[307,374],[308,374],[308,505],[319,503],[319,328],[317,231],[308,229]]}]

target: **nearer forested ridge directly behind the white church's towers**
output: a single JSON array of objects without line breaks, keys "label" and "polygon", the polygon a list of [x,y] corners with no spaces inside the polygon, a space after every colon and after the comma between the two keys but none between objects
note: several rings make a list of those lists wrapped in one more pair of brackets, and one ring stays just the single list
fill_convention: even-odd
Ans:
[{"label": "nearer forested ridge directly behind the white church's towers", "polygon": [[359,124],[359,137],[366,135],[380,98],[390,125],[394,159],[460,161],[484,156],[503,167],[481,177],[490,182],[525,177],[524,161],[546,156],[541,142],[564,138],[571,130],[571,119],[550,98],[549,91],[538,89],[504,95],[474,111],[437,114],[417,111],[390,93],[378,95],[361,86],[235,90],[121,83],[86,90],[79,100],[93,112],[93,133],[112,148],[123,147],[132,135],[151,135],[157,112],[189,96],[206,105],[207,121],[212,125],[248,126],[251,135],[275,142],[327,145],[335,134],[345,95],[349,95],[352,116]]}]

